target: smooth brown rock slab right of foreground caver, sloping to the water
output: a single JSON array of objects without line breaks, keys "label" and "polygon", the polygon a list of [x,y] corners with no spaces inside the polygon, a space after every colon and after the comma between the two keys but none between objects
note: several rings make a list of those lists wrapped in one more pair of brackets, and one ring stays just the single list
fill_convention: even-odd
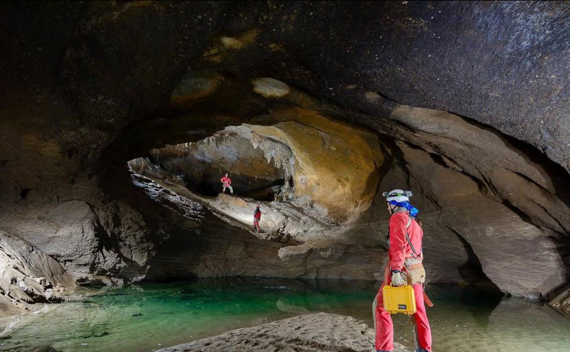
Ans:
[{"label": "smooth brown rock slab right of foreground caver, sloping to the water", "polygon": [[504,204],[484,197],[473,179],[434,163],[428,153],[406,147],[402,152],[410,162],[410,188],[429,195],[433,202],[425,204],[426,215],[421,216],[430,223],[425,240],[430,260],[449,251],[440,249],[444,238],[431,238],[445,228],[469,243],[485,275],[503,292],[540,297],[565,282],[555,232],[534,226]]}]

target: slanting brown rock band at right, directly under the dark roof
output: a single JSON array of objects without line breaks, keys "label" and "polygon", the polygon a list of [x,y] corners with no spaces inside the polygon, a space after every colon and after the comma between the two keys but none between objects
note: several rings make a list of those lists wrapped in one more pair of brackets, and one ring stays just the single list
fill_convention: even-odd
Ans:
[{"label": "slanting brown rock band at right, directly under the dark roof", "polygon": [[396,132],[400,138],[470,175],[491,198],[511,204],[540,226],[570,231],[568,183],[553,172],[555,166],[541,164],[520,143],[441,111],[400,105],[390,118],[406,126]]}]

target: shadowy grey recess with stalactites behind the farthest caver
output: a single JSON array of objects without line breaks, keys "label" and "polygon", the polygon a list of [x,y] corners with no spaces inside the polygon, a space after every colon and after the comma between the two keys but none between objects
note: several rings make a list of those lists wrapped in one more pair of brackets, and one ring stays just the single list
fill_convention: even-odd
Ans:
[{"label": "shadowy grey recess with stalactites behind the farthest caver", "polygon": [[[293,180],[287,177],[283,167],[275,166],[262,148],[235,133],[217,133],[198,142],[153,149],[145,158],[129,161],[129,166],[143,174],[152,169],[168,173],[170,178],[177,178],[189,191],[203,197],[222,193],[220,179],[226,173],[233,194],[239,197],[271,201],[286,182],[293,187]],[[150,169],[142,170],[145,166]],[[230,190],[225,193],[230,194]]]}]

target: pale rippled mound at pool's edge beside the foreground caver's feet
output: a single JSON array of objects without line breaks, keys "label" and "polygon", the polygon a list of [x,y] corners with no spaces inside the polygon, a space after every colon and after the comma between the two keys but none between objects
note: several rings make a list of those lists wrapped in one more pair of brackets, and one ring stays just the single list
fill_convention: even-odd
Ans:
[{"label": "pale rippled mound at pool's edge beside the foreground caver's feet", "polygon": [[[215,337],[168,347],[158,352],[182,351],[370,351],[374,331],[355,318],[316,313],[270,324],[229,331]],[[411,350],[395,344],[394,351]]]}]

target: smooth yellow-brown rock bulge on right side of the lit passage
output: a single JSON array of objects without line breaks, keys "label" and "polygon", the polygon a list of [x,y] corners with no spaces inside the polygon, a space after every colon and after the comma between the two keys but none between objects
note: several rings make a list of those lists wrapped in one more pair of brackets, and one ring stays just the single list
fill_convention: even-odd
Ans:
[{"label": "smooth yellow-brown rock bulge on right side of the lit passage", "polygon": [[311,197],[335,220],[367,210],[384,161],[374,134],[301,108],[278,110],[271,118],[275,125],[247,127],[291,148],[296,197]]}]

